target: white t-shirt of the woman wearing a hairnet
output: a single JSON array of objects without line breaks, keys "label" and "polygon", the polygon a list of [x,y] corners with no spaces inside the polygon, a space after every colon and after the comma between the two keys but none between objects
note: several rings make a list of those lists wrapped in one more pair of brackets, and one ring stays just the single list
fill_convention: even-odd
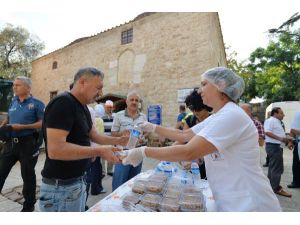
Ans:
[{"label": "white t-shirt of the woman wearing a hairnet", "polygon": [[204,159],[219,211],[281,211],[259,165],[257,129],[239,106],[227,103],[192,130],[217,148]]}]

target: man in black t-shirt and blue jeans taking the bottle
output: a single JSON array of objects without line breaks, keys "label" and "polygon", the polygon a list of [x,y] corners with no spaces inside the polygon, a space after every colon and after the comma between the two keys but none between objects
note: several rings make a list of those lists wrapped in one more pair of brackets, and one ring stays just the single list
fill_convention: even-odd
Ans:
[{"label": "man in black t-shirt and blue jeans taking the bottle", "polygon": [[[41,211],[84,211],[86,187],[84,173],[91,157],[100,156],[119,163],[118,149],[128,136],[99,134],[92,124],[86,104],[102,93],[104,75],[95,68],[80,69],[70,93],[54,98],[46,107],[43,133],[46,161],[42,170],[39,207]],[[106,146],[91,147],[93,141]]]}]

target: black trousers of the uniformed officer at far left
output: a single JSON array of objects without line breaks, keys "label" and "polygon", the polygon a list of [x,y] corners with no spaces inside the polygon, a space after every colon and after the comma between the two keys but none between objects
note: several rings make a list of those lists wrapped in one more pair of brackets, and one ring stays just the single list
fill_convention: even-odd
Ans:
[{"label": "black trousers of the uniformed officer at far left", "polygon": [[34,167],[38,159],[37,140],[35,137],[26,137],[16,141],[9,141],[4,145],[0,153],[0,192],[11,168],[17,161],[21,164],[21,176],[23,179],[23,208],[30,208],[36,202],[36,176]]}]

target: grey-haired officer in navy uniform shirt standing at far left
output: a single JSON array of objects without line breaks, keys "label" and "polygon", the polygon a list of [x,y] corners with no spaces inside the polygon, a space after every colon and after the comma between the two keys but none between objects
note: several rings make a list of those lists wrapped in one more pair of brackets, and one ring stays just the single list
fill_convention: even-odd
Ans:
[{"label": "grey-haired officer in navy uniform shirt standing at far left", "polygon": [[36,176],[34,167],[37,163],[38,132],[42,127],[44,104],[31,96],[31,80],[19,76],[13,84],[14,99],[8,109],[8,118],[2,126],[12,128],[11,138],[7,140],[0,155],[0,191],[17,161],[21,164],[21,176],[24,182],[24,203],[22,212],[34,211],[36,202]]}]

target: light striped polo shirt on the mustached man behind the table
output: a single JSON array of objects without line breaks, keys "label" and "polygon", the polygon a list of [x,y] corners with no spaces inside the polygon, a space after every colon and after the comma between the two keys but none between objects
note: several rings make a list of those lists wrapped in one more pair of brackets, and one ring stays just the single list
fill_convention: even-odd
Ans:
[{"label": "light striped polo shirt on the mustached man behind the table", "polygon": [[132,118],[128,115],[127,109],[125,109],[115,114],[111,132],[120,132],[125,129],[132,129],[135,125],[144,121],[147,121],[145,114],[139,112],[136,118]]}]

